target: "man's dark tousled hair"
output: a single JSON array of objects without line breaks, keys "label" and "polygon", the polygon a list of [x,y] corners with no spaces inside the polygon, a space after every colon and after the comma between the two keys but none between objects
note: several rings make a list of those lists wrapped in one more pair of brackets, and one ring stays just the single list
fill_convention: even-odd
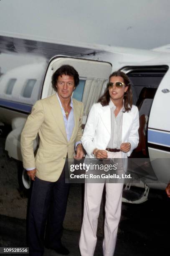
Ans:
[{"label": "man's dark tousled hair", "polygon": [[74,69],[74,67],[70,66],[70,65],[63,65],[61,67],[59,67],[53,74],[52,76],[52,85],[54,90],[57,90],[56,88],[56,83],[57,83],[57,79],[59,76],[62,77],[62,75],[65,74],[67,76],[71,76],[74,78],[74,85],[75,87],[79,84],[79,74],[76,71],[76,69]]}]

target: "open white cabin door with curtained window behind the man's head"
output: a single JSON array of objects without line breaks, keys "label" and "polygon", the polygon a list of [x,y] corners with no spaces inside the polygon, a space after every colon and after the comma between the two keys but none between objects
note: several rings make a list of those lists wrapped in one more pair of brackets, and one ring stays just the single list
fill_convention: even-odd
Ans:
[{"label": "open white cabin door with curtained window behind the man's head", "polygon": [[84,103],[84,124],[91,106],[99,99],[106,88],[109,75],[112,72],[112,64],[104,61],[56,56],[48,64],[41,98],[48,97],[56,92],[52,87],[51,77],[56,69],[64,64],[73,66],[79,73],[80,83],[74,90],[73,98]]}]

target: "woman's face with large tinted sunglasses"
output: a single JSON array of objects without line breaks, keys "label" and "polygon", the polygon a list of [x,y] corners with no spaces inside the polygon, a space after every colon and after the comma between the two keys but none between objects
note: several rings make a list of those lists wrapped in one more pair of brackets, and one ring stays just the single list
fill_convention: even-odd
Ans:
[{"label": "woman's face with large tinted sunglasses", "polygon": [[110,77],[109,79],[110,83],[113,83],[113,86],[109,87],[109,95],[111,97],[111,100],[113,102],[122,101],[124,98],[124,93],[127,92],[128,86],[125,86],[124,84],[122,87],[116,87],[116,82],[122,82],[124,83],[124,79],[122,77]]}]

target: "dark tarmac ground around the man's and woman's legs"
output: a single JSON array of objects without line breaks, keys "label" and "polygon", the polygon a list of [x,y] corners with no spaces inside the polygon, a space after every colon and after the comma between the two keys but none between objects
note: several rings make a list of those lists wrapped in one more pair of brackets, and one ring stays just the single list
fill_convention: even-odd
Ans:
[{"label": "dark tarmac ground around the man's and woman's legs", "polygon": [[[28,198],[18,185],[18,163],[4,150],[0,138],[0,247],[26,247],[26,216]],[[83,184],[72,184],[62,243],[70,256],[80,256],[79,236],[83,208]],[[102,256],[104,200],[101,203],[98,241],[94,256]],[[122,203],[122,215],[114,256],[169,256],[170,199],[165,191],[150,190],[148,200],[134,205]],[[13,255],[13,254],[8,254]],[[15,254],[22,255],[22,254]],[[25,254],[24,254],[25,255]],[[44,256],[57,256],[45,249]]]}]

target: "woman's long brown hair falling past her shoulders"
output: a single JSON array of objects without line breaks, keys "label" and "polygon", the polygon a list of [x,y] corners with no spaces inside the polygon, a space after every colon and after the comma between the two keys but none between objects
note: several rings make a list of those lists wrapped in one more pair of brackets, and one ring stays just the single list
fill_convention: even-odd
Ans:
[{"label": "woman's long brown hair falling past her shoulders", "polygon": [[[129,110],[131,110],[132,108],[132,89],[131,89],[130,80],[128,76],[124,74],[124,72],[118,70],[113,72],[109,76],[109,79],[111,77],[122,77],[124,80],[124,83],[128,86],[127,92],[124,93],[124,111],[123,112],[126,112],[126,111],[129,112]],[[109,88],[107,87],[104,94],[99,98],[98,102],[100,102],[101,105],[104,107],[109,105],[109,101],[110,101],[110,95],[109,95]]]}]

